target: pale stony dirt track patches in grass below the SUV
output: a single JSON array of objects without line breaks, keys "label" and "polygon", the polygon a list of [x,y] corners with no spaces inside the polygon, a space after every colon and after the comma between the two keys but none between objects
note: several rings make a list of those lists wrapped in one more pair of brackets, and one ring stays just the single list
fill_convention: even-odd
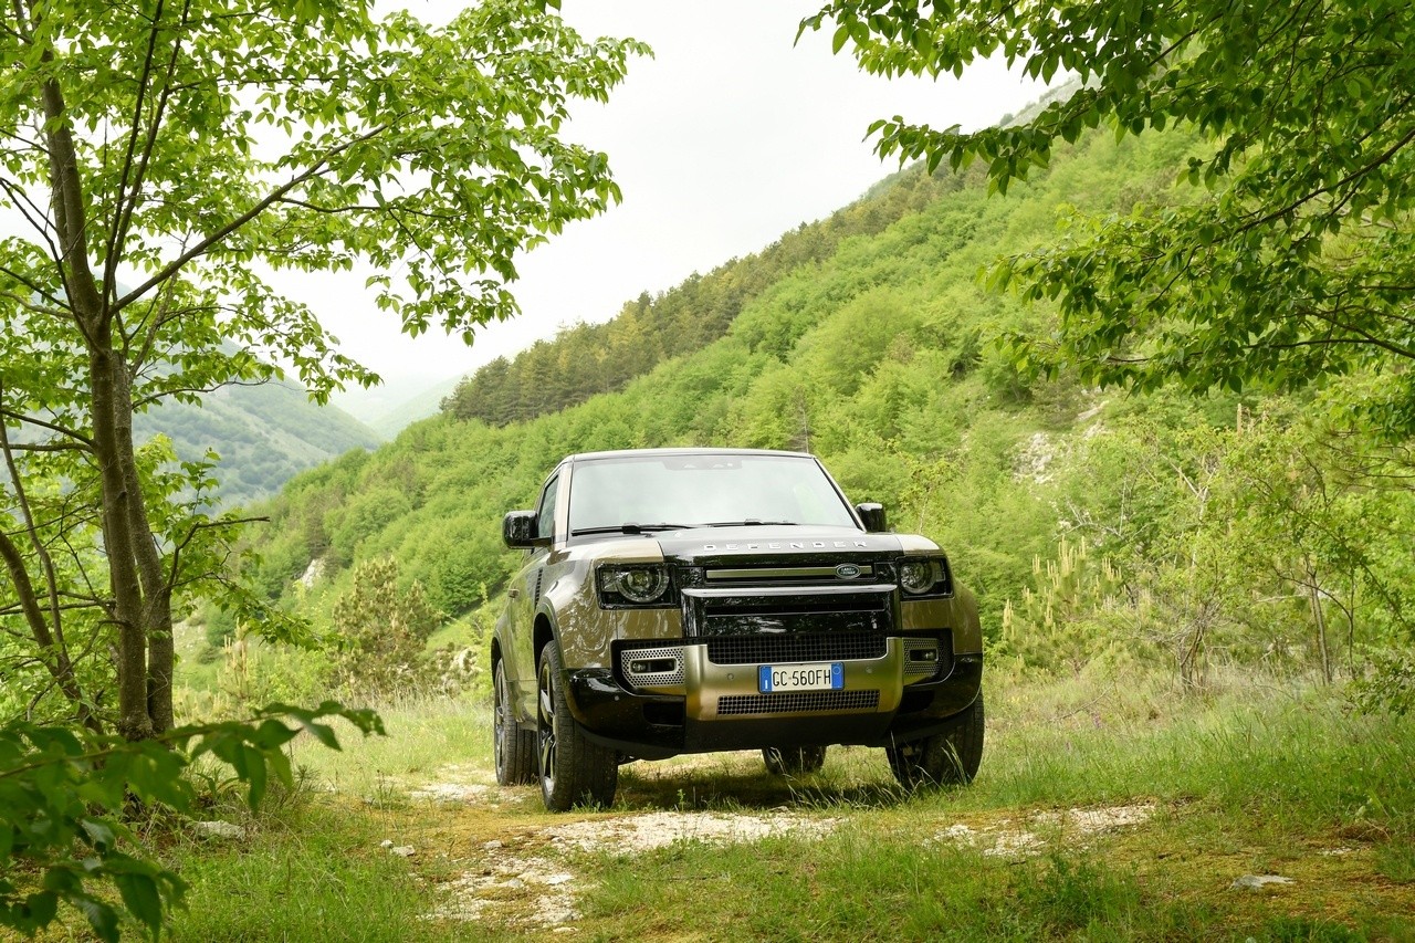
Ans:
[{"label": "pale stony dirt track patches in grass below the SUV", "polygon": [[[730,801],[722,803],[730,808],[683,807],[693,801],[683,791],[685,782],[698,789],[703,777],[715,782],[724,776],[734,780],[729,787],[736,784]],[[593,881],[580,872],[584,852],[634,855],[681,841],[750,842],[787,833],[818,838],[852,814],[849,804],[839,813],[832,813],[829,803],[808,801],[805,808],[784,804],[781,800],[792,799],[791,784],[763,776],[746,756],[688,758],[671,766],[637,767],[621,796],[627,804],[647,810],[631,813],[552,816],[543,811],[533,787],[504,789],[488,780],[490,770],[474,766],[439,770],[432,782],[409,790],[410,807],[403,811],[413,814],[396,817],[406,831],[388,835],[389,850],[408,855],[439,886],[440,903],[429,919],[569,933],[579,919],[579,896]],[[1153,813],[1153,804],[1129,804],[1012,818],[949,817],[924,823],[924,841],[1022,858],[1044,851],[1047,837],[1065,834],[1071,841],[1085,841],[1139,825]]]}]

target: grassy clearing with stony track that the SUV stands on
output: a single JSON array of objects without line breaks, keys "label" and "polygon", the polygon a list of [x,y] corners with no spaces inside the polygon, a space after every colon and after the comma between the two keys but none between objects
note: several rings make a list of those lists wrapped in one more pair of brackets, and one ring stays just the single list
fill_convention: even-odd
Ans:
[{"label": "grassy clearing with stony track that the SUV stands on", "polygon": [[[1415,940],[1415,733],[1252,678],[995,682],[974,786],[883,753],[774,779],[753,753],[635,763],[610,810],[499,789],[483,705],[297,750],[245,841],[170,848],[178,940]],[[1285,878],[1255,889],[1245,876]]]}]

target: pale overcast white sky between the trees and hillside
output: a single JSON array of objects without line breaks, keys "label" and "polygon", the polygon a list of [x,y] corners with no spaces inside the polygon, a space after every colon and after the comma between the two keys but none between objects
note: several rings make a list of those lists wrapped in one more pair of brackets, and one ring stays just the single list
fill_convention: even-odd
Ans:
[{"label": "pale overcast white sky between the trees and hillside", "polygon": [[[457,6],[405,1],[430,20]],[[430,385],[560,326],[607,320],[640,292],[666,290],[849,204],[897,168],[865,140],[877,118],[974,129],[1041,92],[990,64],[937,84],[867,76],[848,52],[831,54],[829,33],[794,45],[815,8],[815,0],[563,0],[583,35],[654,48],[608,105],[582,102],[565,132],[608,154],[624,201],[525,256],[514,286],[522,316],[484,328],[473,347],[436,328],[400,336],[361,275],[311,279],[299,295],[345,353],[399,387],[409,377]]]}]

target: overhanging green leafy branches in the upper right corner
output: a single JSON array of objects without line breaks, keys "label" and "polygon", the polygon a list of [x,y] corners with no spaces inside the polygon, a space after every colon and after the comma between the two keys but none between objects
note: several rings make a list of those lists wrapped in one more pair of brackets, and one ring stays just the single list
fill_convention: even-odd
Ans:
[{"label": "overhanging green leafy branches in the upper right corner", "polygon": [[961,133],[876,122],[882,154],[986,163],[1006,191],[1088,127],[1184,125],[1211,139],[1196,190],[1080,219],[998,269],[1053,297],[1060,331],[1016,334],[1024,365],[1087,381],[1194,389],[1300,387],[1361,367],[1388,382],[1365,406],[1415,429],[1415,7],[1402,0],[832,0],[876,74],[961,74],[1002,55],[1080,88],[1029,120]]}]

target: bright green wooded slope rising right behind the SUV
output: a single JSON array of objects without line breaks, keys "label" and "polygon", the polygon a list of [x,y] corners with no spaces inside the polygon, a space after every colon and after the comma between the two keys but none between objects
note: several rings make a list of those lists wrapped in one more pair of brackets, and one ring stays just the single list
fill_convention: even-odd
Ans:
[{"label": "bright green wooded slope rising right behind the SUV", "polygon": [[[1360,670],[1407,630],[1415,585],[1407,457],[1351,425],[1374,379],[1129,396],[1029,378],[996,343],[1044,337],[1053,312],[993,290],[995,259],[1065,238],[1075,212],[1174,200],[1197,146],[1092,135],[1006,198],[978,170],[913,168],[760,256],[494,364],[441,416],[294,479],[255,537],[260,592],[337,631],[355,564],[391,558],[385,578],[454,617],[514,566],[501,515],[562,455],[788,447],[938,539],[1019,665],[1146,658],[1196,684],[1228,660]],[[841,222],[866,219],[887,225]],[[633,355],[658,364],[633,378]]]}]

